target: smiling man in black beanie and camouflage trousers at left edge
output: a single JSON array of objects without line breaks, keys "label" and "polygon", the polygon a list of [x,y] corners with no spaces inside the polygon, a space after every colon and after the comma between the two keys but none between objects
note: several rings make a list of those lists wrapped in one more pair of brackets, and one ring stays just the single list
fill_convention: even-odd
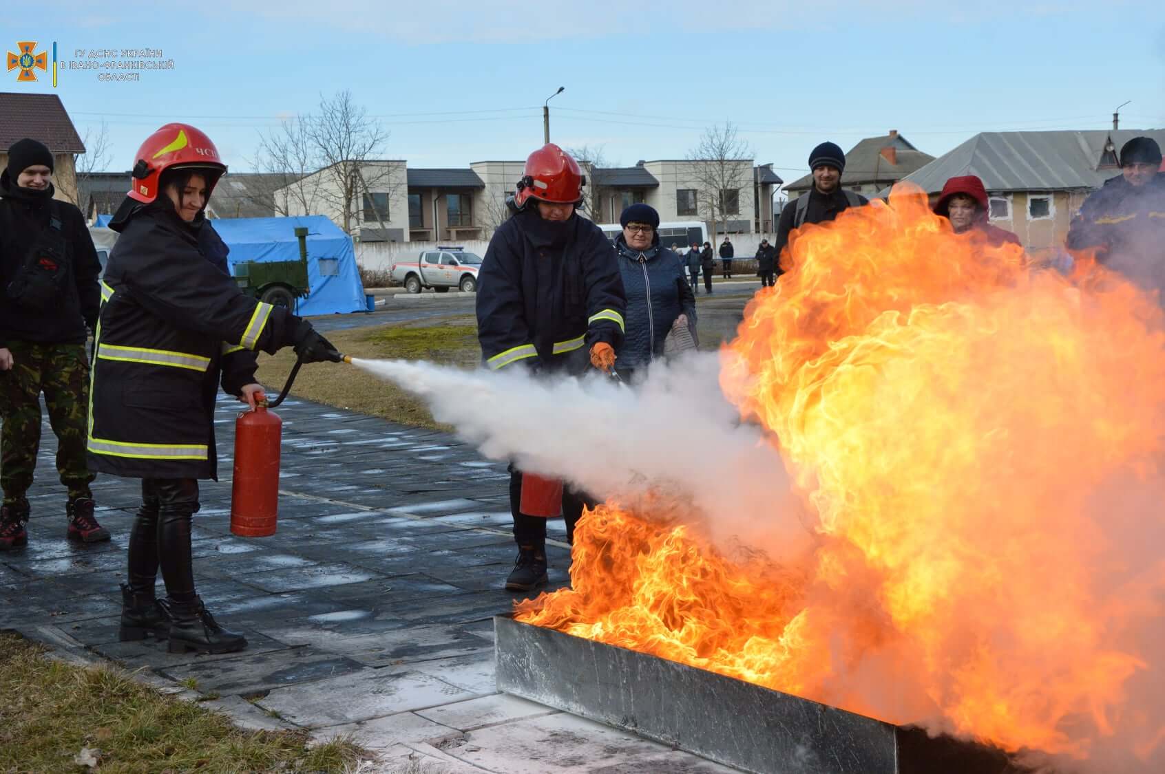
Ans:
[{"label": "smiling man in black beanie and camouflage trousers at left edge", "polygon": [[71,204],[52,198],[52,154],[35,140],[8,149],[0,173],[0,551],[28,542],[24,524],[41,442],[41,393],[69,490],[68,537],[108,540],[93,517],[85,460],[86,326],[97,326],[101,264]]}]

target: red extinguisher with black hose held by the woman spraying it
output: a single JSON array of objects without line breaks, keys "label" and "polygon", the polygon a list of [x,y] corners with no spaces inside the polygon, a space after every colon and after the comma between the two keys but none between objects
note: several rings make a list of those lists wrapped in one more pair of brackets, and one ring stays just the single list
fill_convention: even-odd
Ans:
[{"label": "red extinguisher with black hose held by the woman spraying it", "polygon": [[[352,358],[341,355],[345,363]],[[275,534],[280,510],[280,445],[283,420],[274,411],[291,390],[301,361],[291,368],[280,397],[268,402],[256,396],[254,411],[234,421],[234,478],[231,484],[231,533],[243,538]]]}]

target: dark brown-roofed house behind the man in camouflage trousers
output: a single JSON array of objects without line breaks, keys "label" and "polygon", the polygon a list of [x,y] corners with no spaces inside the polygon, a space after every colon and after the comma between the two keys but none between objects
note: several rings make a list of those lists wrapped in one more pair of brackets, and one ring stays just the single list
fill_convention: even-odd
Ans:
[{"label": "dark brown-roofed house behind the man in camouflage trousers", "polygon": [[0,92],[0,169],[8,165],[8,148],[24,137],[52,151],[55,198],[78,201],[76,154],[85,152],[77,127],[56,94]]}]

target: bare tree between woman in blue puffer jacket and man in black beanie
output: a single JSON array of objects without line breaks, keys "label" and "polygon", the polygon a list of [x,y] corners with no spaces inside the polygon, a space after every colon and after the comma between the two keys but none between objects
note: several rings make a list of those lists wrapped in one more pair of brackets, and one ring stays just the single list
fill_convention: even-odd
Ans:
[{"label": "bare tree between woman in blue puffer jacket and man in black beanie", "polygon": [[700,186],[697,193],[698,212],[712,223],[713,242],[729,215],[739,216],[753,200],[754,156],[753,147],[730,122],[705,129],[699,143],[687,155],[692,163],[692,177]]}]

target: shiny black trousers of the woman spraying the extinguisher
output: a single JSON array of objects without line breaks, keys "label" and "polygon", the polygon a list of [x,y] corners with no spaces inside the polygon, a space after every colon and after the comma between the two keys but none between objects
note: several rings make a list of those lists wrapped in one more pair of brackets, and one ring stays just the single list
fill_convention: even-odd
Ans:
[{"label": "shiny black trousers of the woman spraying the extinguisher", "polygon": [[129,531],[129,588],[154,589],[158,567],[175,602],[193,602],[190,517],[198,511],[196,478],[142,478],[142,505]]}]

